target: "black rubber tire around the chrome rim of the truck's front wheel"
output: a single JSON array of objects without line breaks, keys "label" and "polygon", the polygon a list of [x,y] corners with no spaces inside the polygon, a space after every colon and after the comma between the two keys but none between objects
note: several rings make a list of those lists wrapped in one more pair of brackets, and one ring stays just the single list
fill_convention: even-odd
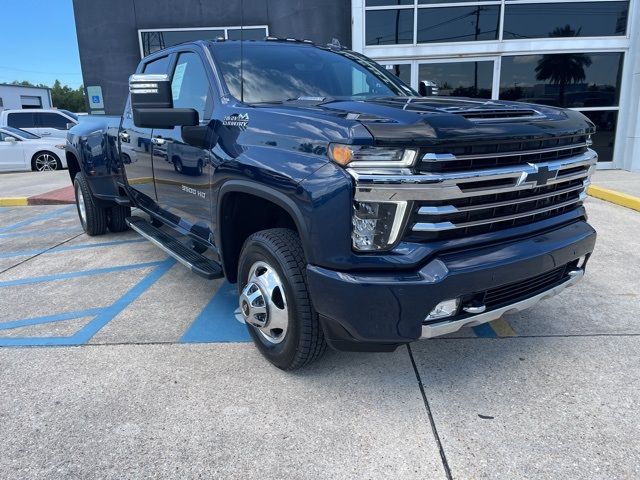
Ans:
[{"label": "black rubber tire around the chrome rim of the truck's front wheel", "polygon": [[256,327],[247,324],[258,350],[282,370],[295,370],[317,360],[325,352],[327,343],[309,298],[307,263],[300,238],[286,228],[263,230],[251,235],[240,253],[238,287],[241,293],[256,262],[266,262],[276,271],[288,309],[287,332],[280,343],[270,343]]}]

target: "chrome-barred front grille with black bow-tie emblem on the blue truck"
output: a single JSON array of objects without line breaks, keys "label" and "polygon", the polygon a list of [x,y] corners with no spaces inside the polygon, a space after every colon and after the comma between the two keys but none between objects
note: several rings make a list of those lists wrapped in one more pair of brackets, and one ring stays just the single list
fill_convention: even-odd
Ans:
[{"label": "chrome-barred front grille with black bow-tie emblem on the blue truck", "polygon": [[[349,173],[356,180],[356,201],[407,202],[404,240],[460,238],[534,223],[579,208],[598,159],[584,140],[582,145],[556,145],[553,150],[505,152],[505,158],[520,162],[510,166],[417,174],[408,169],[354,168]],[[542,159],[551,152],[567,152],[569,156],[525,161],[531,155]],[[485,154],[474,155],[477,159]]]}]

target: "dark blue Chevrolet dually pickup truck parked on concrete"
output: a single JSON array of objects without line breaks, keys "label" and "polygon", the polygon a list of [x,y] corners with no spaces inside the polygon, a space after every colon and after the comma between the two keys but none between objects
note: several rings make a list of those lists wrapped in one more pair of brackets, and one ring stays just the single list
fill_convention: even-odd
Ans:
[{"label": "dark blue Chevrolet dually pickup truck parked on concrete", "polygon": [[144,58],[119,123],[72,128],[66,155],[89,235],[130,227],[237,283],[257,347],[294,369],[576,283],[594,131],[571,110],[420,97],[339,46],[217,41]]}]

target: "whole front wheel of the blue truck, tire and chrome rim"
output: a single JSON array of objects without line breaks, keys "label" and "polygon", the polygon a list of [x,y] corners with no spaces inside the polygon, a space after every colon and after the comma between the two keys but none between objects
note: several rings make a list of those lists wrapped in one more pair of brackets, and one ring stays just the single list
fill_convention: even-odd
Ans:
[{"label": "whole front wheel of the blue truck, tire and chrome rim", "polygon": [[326,350],[311,304],[298,235],[274,228],[251,235],[238,266],[240,311],[254,343],[282,370],[295,370]]}]

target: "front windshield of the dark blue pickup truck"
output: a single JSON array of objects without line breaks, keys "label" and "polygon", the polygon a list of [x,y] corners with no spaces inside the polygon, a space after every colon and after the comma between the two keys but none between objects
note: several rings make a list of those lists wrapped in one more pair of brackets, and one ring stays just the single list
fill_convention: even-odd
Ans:
[{"label": "front windshield of the dark blue pickup truck", "polygon": [[[373,60],[350,51],[251,42],[244,42],[243,50],[246,103],[416,95]],[[242,98],[240,42],[215,44],[212,51],[229,91]]]}]

